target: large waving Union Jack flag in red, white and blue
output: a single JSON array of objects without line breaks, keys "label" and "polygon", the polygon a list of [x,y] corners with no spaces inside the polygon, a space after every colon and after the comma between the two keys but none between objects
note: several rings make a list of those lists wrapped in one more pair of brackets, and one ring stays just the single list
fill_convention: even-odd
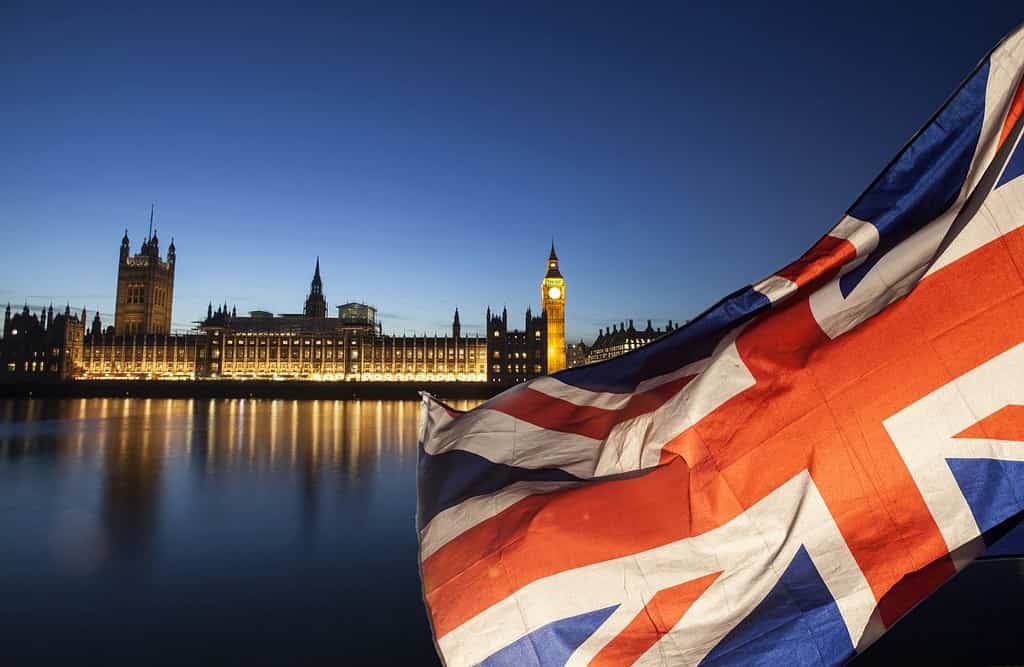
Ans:
[{"label": "large waving Union Jack flag in red, white and blue", "polygon": [[1020,520],[1022,73],[1018,31],[800,259],[671,335],[424,395],[445,664],[842,663]]}]

